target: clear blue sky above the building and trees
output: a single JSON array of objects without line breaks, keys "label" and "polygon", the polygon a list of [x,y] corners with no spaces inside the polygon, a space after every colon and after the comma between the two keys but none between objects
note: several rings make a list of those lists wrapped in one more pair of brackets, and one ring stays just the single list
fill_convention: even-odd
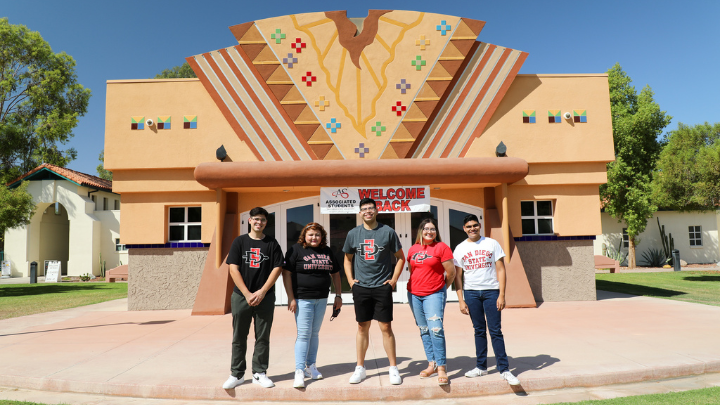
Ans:
[{"label": "clear blue sky above the building and trees", "polygon": [[[77,62],[92,90],[63,148],[94,174],[105,132],[107,80],[152,78],[185,58],[236,45],[229,26],[287,14],[416,10],[485,21],[479,40],[529,53],[520,73],[604,73],[615,63],[649,85],[673,117],[666,128],[720,122],[720,1],[187,1],[0,0],[0,17],[38,31]],[[128,145],[132,148],[132,145]]]}]

